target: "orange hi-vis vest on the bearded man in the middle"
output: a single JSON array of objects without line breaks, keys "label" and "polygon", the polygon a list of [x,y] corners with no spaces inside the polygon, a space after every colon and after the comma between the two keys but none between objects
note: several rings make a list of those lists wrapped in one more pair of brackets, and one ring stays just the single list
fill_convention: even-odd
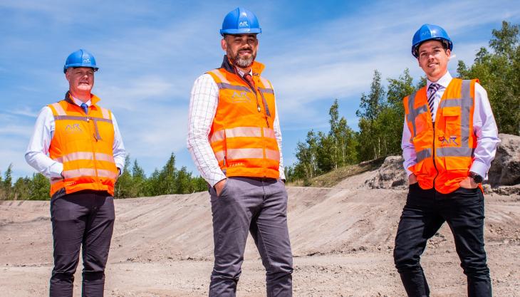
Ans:
[{"label": "orange hi-vis vest on the bearded man in the middle", "polygon": [[224,56],[209,71],[219,87],[219,103],[209,132],[219,166],[227,177],[279,178],[280,152],[274,135],[275,99],[264,65],[251,66],[254,86],[241,78]]}]

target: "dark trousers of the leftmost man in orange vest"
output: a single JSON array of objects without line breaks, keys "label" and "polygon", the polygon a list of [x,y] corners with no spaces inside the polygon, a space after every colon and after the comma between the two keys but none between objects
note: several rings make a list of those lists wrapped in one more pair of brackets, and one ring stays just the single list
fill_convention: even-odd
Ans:
[{"label": "dark trousers of the leftmost man in orange vest", "polygon": [[83,191],[51,199],[54,240],[51,297],[73,296],[81,246],[82,296],[103,296],[114,219],[114,198],[106,192]]}]

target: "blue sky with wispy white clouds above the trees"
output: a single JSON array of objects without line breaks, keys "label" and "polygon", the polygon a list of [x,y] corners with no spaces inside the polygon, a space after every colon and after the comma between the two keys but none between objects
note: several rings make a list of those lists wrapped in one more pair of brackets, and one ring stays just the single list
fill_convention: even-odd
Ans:
[{"label": "blue sky with wispy white clouds above the trees", "polygon": [[189,92],[222,62],[219,28],[244,6],[259,17],[257,60],[276,90],[284,159],[298,140],[327,130],[328,108],[357,129],[355,110],[373,71],[422,74],[410,54],[422,24],[443,26],[457,60],[471,64],[501,21],[520,23],[518,1],[41,1],[0,2],[0,171],[31,175],[24,152],[43,105],[63,98],[63,63],[72,51],[94,54],[93,93],[113,110],[125,147],[150,174],[171,152],[198,174],[186,149]]}]

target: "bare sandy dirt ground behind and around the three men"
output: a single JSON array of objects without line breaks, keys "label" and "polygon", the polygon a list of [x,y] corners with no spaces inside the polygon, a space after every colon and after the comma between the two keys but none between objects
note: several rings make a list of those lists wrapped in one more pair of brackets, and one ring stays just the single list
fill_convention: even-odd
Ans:
[{"label": "bare sandy dirt ground behind and around the three men", "polygon": [[[406,191],[365,189],[372,172],[332,188],[288,187],[293,296],[405,296],[392,263]],[[209,195],[116,200],[105,296],[207,296],[212,270]],[[520,296],[520,197],[486,195],[485,238],[494,296]],[[422,256],[432,297],[465,296],[449,228]],[[74,296],[80,296],[80,266]],[[52,269],[48,202],[0,202],[0,296],[46,296]],[[265,296],[248,241],[237,296]]]}]

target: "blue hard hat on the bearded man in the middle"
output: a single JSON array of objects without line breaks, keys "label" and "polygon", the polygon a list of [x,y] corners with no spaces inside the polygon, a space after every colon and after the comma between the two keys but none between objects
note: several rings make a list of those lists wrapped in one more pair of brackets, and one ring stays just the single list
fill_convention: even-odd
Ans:
[{"label": "blue hard hat on the bearded man in the middle", "polygon": [[224,34],[247,34],[261,33],[262,29],[256,16],[249,10],[236,7],[230,11],[222,22],[220,35]]}]

